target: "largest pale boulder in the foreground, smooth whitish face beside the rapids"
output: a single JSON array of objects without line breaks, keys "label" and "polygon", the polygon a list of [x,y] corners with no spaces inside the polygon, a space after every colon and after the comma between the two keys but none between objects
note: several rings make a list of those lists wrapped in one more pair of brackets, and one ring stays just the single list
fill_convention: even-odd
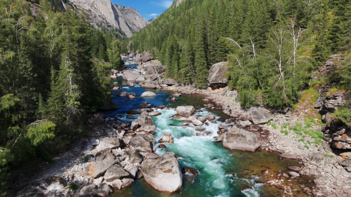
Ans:
[{"label": "largest pale boulder in the foreground, smooth whitish face beside the rapids", "polygon": [[142,164],[145,181],[159,191],[180,190],[183,175],[174,152],[166,152],[157,160]]}]

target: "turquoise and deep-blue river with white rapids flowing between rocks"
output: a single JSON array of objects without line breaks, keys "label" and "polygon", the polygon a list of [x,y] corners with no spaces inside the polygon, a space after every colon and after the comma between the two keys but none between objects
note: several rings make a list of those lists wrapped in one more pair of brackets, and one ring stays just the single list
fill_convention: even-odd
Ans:
[{"label": "turquoise and deep-blue river with white rapids flowing between rocks", "polygon": [[[131,65],[135,68],[135,65]],[[115,80],[118,86],[126,86],[127,82],[122,77]],[[135,83],[138,84],[138,83]],[[129,100],[127,97],[119,97],[121,91],[134,92],[136,99]],[[140,97],[145,91],[152,91],[157,94],[154,97]],[[165,131],[173,135],[173,144],[164,143],[166,149],[157,149],[159,155],[172,151],[177,154],[181,168],[189,166],[199,171],[195,176],[189,173],[183,174],[183,187],[181,190],[173,193],[160,192],[153,189],[146,181],[142,179],[121,190],[114,189],[112,196],[277,196],[282,194],[282,189],[267,186],[266,180],[270,176],[287,170],[288,165],[298,165],[297,161],[282,159],[279,160],[279,153],[268,151],[245,152],[229,150],[223,147],[222,143],[213,140],[218,136],[218,126],[230,126],[233,123],[229,121],[230,117],[219,110],[203,108],[208,102],[202,101],[203,95],[182,95],[175,102],[170,101],[170,94],[160,89],[145,89],[136,85],[134,87],[124,87],[120,91],[113,91],[112,97],[120,109],[105,112],[105,115],[118,115],[122,121],[135,121],[126,119],[125,112],[131,109],[138,109],[139,104],[147,102],[153,106],[171,106],[176,108],[181,105],[192,105],[197,111],[198,116],[207,116],[210,113],[216,115],[215,121],[207,121],[208,126],[204,125],[203,129],[195,130],[191,127],[182,127],[182,119],[168,119],[170,116],[177,114],[175,110],[159,110],[162,115],[152,117],[157,131],[154,133],[155,147],[158,147],[158,141],[162,138]],[[155,109],[154,109],[155,110]],[[138,115],[135,115],[138,117]],[[227,121],[225,121],[227,120]],[[225,122],[225,123],[224,123]],[[268,174],[261,173],[262,170],[268,170]],[[291,171],[291,170],[290,170]],[[299,182],[306,186],[312,187],[313,182],[308,178],[301,179]],[[294,183],[295,184],[295,183]],[[297,186],[298,187],[298,186]],[[301,193],[301,196],[304,193]]]}]

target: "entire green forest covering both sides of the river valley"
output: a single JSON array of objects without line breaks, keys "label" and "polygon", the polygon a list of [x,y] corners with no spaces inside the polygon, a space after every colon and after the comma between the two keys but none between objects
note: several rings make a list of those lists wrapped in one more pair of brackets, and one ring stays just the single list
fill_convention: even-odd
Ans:
[{"label": "entire green forest covering both sides of the river valley", "polygon": [[[131,37],[90,17],[69,0],[0,0],[0,196],[12,170],[54,163],[87,134],[123,53],[149,51],[164,78],[198,89],[228,62],[243,109],[295,109],[311,87],[351,91],[350,61],[316,74],[330,55],[351,57],[349,0],[184,0]],[[348,99],[333,114],[351,126]]]}]

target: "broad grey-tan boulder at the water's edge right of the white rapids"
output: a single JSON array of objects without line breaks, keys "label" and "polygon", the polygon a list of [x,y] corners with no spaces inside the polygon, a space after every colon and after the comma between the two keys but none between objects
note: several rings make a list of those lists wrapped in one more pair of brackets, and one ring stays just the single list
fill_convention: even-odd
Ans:
[{"label": "broad grey-tan boulder at the water's edge right of the white rapids", "polygon": [[255,152],[260,147],[257,135],[244,129],[233,126],[224,133],[223,146],[233,150],[246,150]]}]

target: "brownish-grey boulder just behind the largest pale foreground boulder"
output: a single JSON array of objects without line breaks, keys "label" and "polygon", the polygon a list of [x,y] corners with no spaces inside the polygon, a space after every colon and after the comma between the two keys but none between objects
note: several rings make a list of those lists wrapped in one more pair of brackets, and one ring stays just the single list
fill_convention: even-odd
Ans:
[{"label": "brownish-grey boulder just behind the largest pale foreground boulder", "polygon": [[152,135],[139,134],[132,137],[129,142],[129,148],[139,152],[154,152],[155,139]]}]

